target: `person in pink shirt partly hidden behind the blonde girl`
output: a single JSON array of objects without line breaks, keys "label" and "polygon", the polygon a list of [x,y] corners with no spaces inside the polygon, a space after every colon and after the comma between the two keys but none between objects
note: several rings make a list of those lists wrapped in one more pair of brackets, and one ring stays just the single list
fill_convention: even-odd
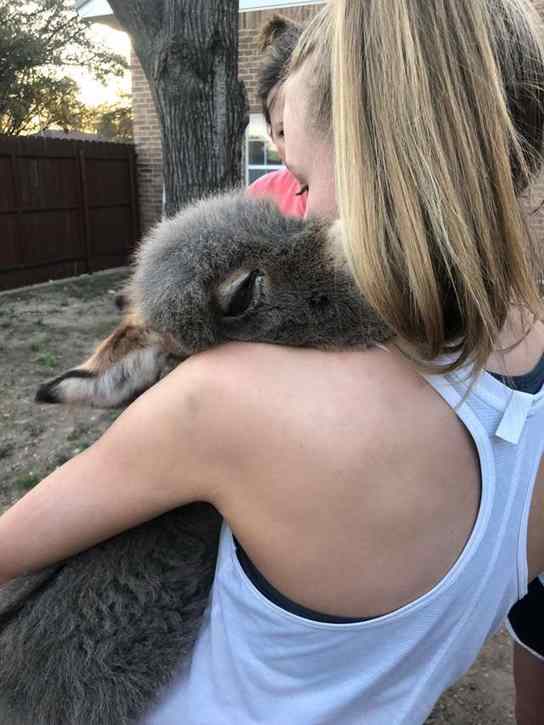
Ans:
[{"label": "person in pink shirt partly hidden behind the blonde girl", "polygon": [[[261,102],[268,135],[276,146],[282,163],[285,162],[283,133],[283,79],[286,76],[293,50],[303,27],[280,15],[274,15],[261,31],[263,59],[257,78],[257,96]],[[271,171],[250,184],[247,193],[273,199],[282,214],[306,216],[307,190],[301,188],[287,168]]]}]

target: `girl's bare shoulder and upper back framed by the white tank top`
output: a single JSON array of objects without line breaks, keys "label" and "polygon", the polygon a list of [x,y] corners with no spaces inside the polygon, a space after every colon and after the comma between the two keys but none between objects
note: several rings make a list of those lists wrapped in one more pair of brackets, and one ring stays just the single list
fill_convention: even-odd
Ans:
[{"label": "girl's bare shoulder and upper back framed by the white tank top", "polygon": [[455,413],[400,357],[236,344],[193,364],[210,430],[234,452],[216,503],[280,591],[373,616],[446,574],[476,516],[478,465]]}]

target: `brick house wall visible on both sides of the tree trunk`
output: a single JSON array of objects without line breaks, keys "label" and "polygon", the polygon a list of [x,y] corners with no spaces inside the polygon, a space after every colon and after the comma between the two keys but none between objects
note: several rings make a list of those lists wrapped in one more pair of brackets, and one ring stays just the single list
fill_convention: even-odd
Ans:
[{"label": "brick house wall visible on both sides of the tree trunk", "polygon": [[[305,21],[319,10],[319,5],[285,8],[281,14]],[[274,11],[240,13],[240,77],[245,81],[250,110],[259,113],[255,98],[256,74],[259,54],[256,37],[259,28]],[[149,85],[138,59],[132,54],[132,98],[134,108],[134,143],[138,154],[138,189],[142,232],[161,218],[162,210],[162,159],[159,120],[149,90]]]}]

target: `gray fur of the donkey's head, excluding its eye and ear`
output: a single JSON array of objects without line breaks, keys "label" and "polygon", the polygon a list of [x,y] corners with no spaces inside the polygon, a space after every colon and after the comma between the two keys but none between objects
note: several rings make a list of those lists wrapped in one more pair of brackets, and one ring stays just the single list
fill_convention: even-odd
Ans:
[{"label": "gray fur of the donkey's head, excluding its eye and ear", "polygon": [[[158,226],[138,255],[131,298],[180,354],[227,340],[306,347],[366,345],[387,333],[343,265],[331,225],[284,217],[240,194],[216,197]],[[214,292],[229,273],[260,271],[261,294],[225,317]]]}]

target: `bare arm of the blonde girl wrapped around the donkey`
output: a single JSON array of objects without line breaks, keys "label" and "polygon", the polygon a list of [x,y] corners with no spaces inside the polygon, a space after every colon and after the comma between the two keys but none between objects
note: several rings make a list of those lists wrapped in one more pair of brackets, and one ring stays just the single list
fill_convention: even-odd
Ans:
[{"label": "bare arm of the blonde girl wrapped around the donkey", "polygon": [[213,351],[180,365],[1,516],[0,583],[182,504],[214,503],[240,440],[220,363]]}]

